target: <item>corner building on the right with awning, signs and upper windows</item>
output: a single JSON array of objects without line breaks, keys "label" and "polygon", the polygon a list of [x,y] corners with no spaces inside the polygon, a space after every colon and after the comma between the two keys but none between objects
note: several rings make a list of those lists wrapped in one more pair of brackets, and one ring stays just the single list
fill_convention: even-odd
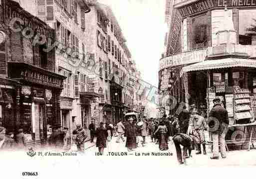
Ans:
[{"label": "corner building on the right with awning, signs and upper windows", "polygon": [[[166,10],[171,20],[160,59],[159,88],[175,98],[170,99],[170,104],[177,103],[170,114],[184,102],[206,106],[209,115],[218,96],[229,112],[230,125],[251,123],[256,114],[256,1],[175,0],[168,4],[172,4]],[[251,129],[241,128],[250,136]]]}]

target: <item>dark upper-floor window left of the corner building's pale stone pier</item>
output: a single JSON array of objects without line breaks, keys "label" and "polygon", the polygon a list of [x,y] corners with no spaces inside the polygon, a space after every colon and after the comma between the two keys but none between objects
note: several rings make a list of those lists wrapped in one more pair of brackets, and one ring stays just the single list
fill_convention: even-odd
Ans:
[{"label": "dark upper-floor window left of the corner building's pale stone pier", "polygon": [[192,49],[206,48],[208,46],[207,24],[206,14],[192,19]]}]

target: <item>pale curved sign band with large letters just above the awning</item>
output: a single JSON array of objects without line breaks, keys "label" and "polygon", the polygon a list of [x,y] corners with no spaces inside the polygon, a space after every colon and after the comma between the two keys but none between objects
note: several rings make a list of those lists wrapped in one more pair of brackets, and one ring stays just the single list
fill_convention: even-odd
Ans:
[{"label": "pale curved sign band with large letters just above the awning", "polygon": [[160,70],[172,66],[198,63],[204,61],[207,56],[207,49],[183,52],[177,55],[164,57],[160,60]]}]

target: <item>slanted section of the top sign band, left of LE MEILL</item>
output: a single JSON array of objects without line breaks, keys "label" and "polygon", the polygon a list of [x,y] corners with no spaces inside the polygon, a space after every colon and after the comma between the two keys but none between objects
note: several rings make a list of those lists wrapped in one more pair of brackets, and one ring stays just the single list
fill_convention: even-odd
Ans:
[{"label": "slanted section of the top sign band, left of LE MEILL", "polygon": [[213,8],[214,6],[215,5],[213,0],[202,0],[202,1],[197,1],[196,3],[186,5],[180,8],[179,11],[182,14],[182,16],[188,16],[194,13],[208,10],[210,8]]}]

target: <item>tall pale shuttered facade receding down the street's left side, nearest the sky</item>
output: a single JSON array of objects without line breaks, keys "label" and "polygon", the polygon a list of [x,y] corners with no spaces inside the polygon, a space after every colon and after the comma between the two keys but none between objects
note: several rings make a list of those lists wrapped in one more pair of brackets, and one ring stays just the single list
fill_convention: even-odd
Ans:
[{"label": "tall pale shuttered facade receding down the street's left side, nearest the sky", "polygon": [[118,21],[111,8],[96,0],[88,0],[86,14],[87,51],[94,54],[95,68],[90,90],[100,98],[91,106],[96,126],[100,121],[113,124],[125,113],[140,112],[140,72],[136,69]]}]

